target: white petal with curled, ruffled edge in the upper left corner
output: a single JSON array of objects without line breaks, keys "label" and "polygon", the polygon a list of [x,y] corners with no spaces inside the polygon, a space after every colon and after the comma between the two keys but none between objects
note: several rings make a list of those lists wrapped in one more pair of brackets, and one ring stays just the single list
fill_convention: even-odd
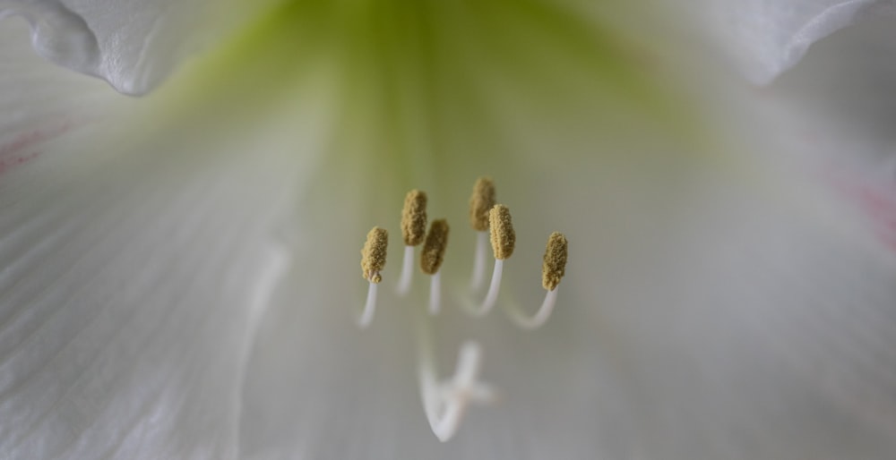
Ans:
[{"label": "white petal with curled, ruffled edge in the upper left corner", "polygon": [[143,94],[185,56],[220,39],[268,1],[5,0],[0,20],[31,25],[35,50],[53,63],[98,76],[127,94]]}]

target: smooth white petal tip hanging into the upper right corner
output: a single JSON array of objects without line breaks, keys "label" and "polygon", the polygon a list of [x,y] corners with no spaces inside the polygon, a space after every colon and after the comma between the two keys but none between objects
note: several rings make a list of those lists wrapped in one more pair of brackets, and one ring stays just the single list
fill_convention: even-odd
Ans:
[{"label": "smooth white petal tip hanging into the upper right corner", "polygon": [[766,84],[815,41],[856,21],[896,13],[892,0],[708,0],[716,38],[745,76]]}]

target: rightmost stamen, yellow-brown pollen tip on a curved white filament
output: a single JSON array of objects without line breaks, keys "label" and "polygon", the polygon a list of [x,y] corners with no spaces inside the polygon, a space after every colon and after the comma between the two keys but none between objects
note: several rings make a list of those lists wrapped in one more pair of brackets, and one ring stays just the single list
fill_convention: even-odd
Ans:
[{"label": "rightmost stamen, yellow-brown pollen tip on a curved white filament", "polygon": [[567,243],[564,234],[552,233],[547,237],[544,264],[541,267],[541,284],[547,289],[544,302],[534,315],[528,316],[517,305],[507,305],[506,312],[520,328],[536,329],[543,326],[554,311],[557,300],[557,286],[566,273]]}]

